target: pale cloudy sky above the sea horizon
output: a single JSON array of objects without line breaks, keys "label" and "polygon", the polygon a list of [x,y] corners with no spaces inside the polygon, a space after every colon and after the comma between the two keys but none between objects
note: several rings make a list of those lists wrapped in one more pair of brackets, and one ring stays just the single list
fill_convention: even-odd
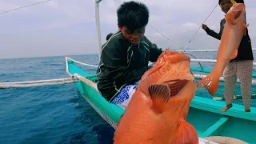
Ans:
[{"label": "pale cloudy sky above the sea horizon", "polygon": [[[1,0],[0,13],[42,0]],[[117,2],[116,2],[117,1]],[[116,10],[123,0],[102,0],[100,21],[102,44],[106,35],[118,30]],[[246,1],[246,22],[252,46],[256,42],[256,2]],[[150,10],[146,37],[165,50],[218,49],[219,40],[202,28],[218,0],[138,0]],[[197,3],[195,3],[197,2]],[[225,14],[219,6],[205,24],[219,32]],[[154,26],[151,27],[151,26]],[[155,30],[156,29],[156,30]],[[195,32],[198,33],[190,41]],[[160,31],[162,34],[159,34]],[[53,0],[0,14],[0,58],[24,58],[73,54],[98,54],[94,0]]]}]

